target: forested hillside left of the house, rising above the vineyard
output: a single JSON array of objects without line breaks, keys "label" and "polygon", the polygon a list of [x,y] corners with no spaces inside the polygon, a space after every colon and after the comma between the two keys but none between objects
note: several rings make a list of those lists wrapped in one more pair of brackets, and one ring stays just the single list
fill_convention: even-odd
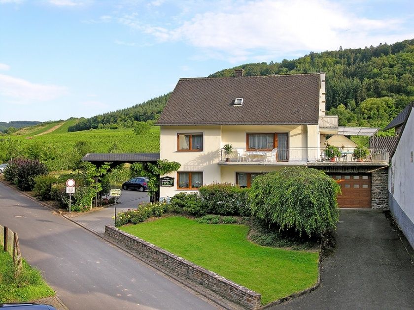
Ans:
[{"label": "forested hillside left of the house, rising above the vineyard", "polygon": [[89,119],[80,119],[77,124],[68,128],[68,131],[88,129],[117,129],[119,127],[134,127],[136,122],[157,120],[167,103],[170,93],[153,98],[131,108],[121,109],[94,116]]}]

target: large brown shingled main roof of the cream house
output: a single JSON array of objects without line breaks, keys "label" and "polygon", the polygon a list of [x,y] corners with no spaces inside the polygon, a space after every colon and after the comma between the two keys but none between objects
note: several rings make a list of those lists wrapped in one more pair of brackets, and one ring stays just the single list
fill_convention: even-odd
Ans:
[{"label": "large brown shingled main roof of the cream house", "polygon": [[180,79],[157,124],[318,124],[319,90],[320,73]]}]

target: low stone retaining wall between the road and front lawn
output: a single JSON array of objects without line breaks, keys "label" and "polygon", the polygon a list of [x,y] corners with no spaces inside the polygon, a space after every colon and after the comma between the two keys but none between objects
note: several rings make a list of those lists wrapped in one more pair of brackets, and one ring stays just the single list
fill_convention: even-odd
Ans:
[{"label": "low stone retaining wall between the road and front lawn", "polygon": [[105,236],[135,253],[149,265],[155,265],[169,274],[173,274],[189,283],[190,286],[192,283],[202,285],[247,309],[258,309],[261,307],[262,296],[259,293],[201,268],[165,249],[158,248],[112,226],[105,226]]}]

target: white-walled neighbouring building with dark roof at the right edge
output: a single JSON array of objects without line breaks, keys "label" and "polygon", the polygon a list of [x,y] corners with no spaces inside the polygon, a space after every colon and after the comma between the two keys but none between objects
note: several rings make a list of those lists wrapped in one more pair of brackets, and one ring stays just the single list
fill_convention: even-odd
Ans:
[{"label": "white-walled neighbouring building with dark roof at the right edge", "polygon": [[386,129],[396,128],[397,144],[389,167],[389,209],[414,248],[414,103]]}]

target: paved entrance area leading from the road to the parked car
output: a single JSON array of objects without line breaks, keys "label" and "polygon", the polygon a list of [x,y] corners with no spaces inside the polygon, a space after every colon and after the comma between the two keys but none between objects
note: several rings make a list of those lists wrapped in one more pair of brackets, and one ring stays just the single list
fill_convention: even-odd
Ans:
[{"label": "paved entrance area leading from the road to the parked car", "polygon": [[[135,190],[123,190],[121,197],[119,197],[119,204],[116,204],[116,212],[123,210],[137,208],[141,202],[149,202],[148,192],[139,192]],[[104,234],[105,225],[113,225],[112,217],[115,214],[115,206],[108,206],[99,211],[94,211],[86,214],[82,214],[72,219],[78,223],[92,229],[93,231]]]}]

